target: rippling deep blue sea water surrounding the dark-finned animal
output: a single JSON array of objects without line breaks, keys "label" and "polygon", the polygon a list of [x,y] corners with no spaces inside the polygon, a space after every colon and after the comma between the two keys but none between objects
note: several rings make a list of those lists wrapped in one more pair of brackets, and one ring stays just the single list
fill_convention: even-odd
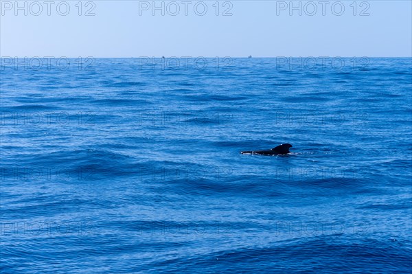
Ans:
[{"label": "rippling deep blue sea water surrounding the dark-finned animal", "polygon": [[411,273],[411,58],[69,61],[2,63],[1,273]]}]

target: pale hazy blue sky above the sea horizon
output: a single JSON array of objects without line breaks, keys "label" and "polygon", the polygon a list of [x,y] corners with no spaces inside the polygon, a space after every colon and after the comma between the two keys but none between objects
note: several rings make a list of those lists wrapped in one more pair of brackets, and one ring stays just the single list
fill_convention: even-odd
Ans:
[{"label": "pale hazy blue sky above the sea horizon", "polygon": [[411,1],[33,2],[1,1],[1,56],[412,55]]}]

